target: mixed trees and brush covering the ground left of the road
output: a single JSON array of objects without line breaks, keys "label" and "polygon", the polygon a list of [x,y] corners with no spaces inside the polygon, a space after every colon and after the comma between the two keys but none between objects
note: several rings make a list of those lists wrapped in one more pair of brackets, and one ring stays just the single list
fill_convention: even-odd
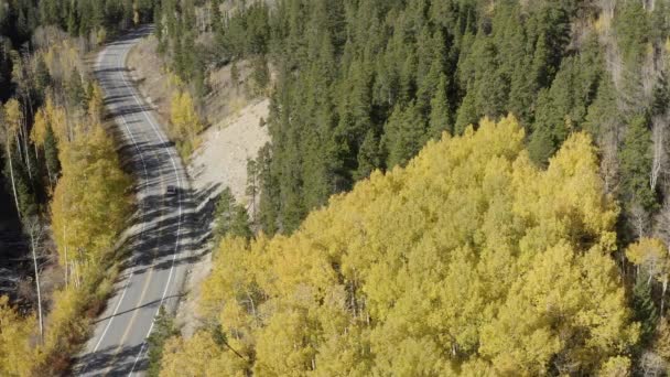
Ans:
[{"label": "mixed trees and brush covering the ground left of the road", "polygon": [[31,267],[17,262],[18,287],[2,287],[2,376],[65,373],[119,269],[115,246],[132,211],[132,181],[87,54],[143,11],[128,9],[125,18],[121,1],[94,6],[0,1],[3,183]]}]

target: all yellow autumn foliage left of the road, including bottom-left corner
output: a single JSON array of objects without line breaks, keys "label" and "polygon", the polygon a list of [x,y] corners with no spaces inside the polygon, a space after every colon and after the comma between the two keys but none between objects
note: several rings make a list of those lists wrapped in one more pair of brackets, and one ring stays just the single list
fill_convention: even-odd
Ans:
[{"label": "all yellow autumn foliage left of the road, including bottom-left corner", "polygon": [[[68,284],[54,292],[44,340],[35,334],[34,315],[21,317],[0,297],[0,375],[33,376],[61,373],[67,367],[87,330],[85,311],[109,289],[114,241],[125,227],[131,202],[130,177],[120,169],[112,139],[99,123],[102,94],[97,85],[89,95],[87,125],[69,127],[65,110],[51,96],[36,111],[30,138],[42,147],[48,129],[54,131],[61,177],[51,203],[52,229],[58,260]],[[7,136],[21,131],[18,101],[4,106]],[[114,271],[114,269],[111,269]]]}]

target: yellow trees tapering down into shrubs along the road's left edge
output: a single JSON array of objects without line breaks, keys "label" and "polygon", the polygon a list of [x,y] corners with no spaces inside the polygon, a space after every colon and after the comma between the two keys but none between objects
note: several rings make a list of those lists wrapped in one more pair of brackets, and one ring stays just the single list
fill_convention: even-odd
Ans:
[{"label": "yellow trees tapering down into shrubs along the road's left edge", "polygon": [[98,122],[101,91],[94,86],[89,101],[90,125],[68,127],[65,111],[47,99],[37,112],[33,138],[43,142],[51,127],[56,136],[61,177],[53,192],[51,216],[58,261],[71,282],[52,298],[42,358],[33,365],[41,373],[58,371],[68,364],[74,347],[86,335],[85,311],[101,299],[98,287],[108,274],[114,243],[131,209],[130,177],[120,169],[112,139]]}]

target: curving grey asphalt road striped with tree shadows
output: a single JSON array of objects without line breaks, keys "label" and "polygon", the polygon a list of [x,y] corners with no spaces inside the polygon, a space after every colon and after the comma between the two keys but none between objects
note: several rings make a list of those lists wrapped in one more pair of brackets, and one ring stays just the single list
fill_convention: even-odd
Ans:
[{"label": "curving grey asphalt road striped with tree shadows", "polygon": [[[126,68],[130,49],[149,31],[144,28],[108,44],[95,67],[108,114],[122,136],[120,153],[136,175],[138,213],[122,246],[130,250],[127,267],[77,357],[76,376],[141,375],[153,320],[161,305],[175,309],[191,262],[184,168]],[[176,194],[166,193],[169,185],[177,187]]]}]

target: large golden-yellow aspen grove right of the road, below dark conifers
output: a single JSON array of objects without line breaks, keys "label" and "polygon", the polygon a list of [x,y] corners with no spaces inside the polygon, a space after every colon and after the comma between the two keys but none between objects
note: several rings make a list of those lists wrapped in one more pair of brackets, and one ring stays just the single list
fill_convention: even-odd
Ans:
[{"label": "large golden-yellow aspen grove right of the road, below dark conifers", "polygon": [[[523,137],[512,117],[485,119],[290,237],[225,239],[202,314],[262,376],[627,370],[638,325],[595,149],[576,133],[542,171]],[[185,347],[164,357],[165,376],[185,370]]]}]

